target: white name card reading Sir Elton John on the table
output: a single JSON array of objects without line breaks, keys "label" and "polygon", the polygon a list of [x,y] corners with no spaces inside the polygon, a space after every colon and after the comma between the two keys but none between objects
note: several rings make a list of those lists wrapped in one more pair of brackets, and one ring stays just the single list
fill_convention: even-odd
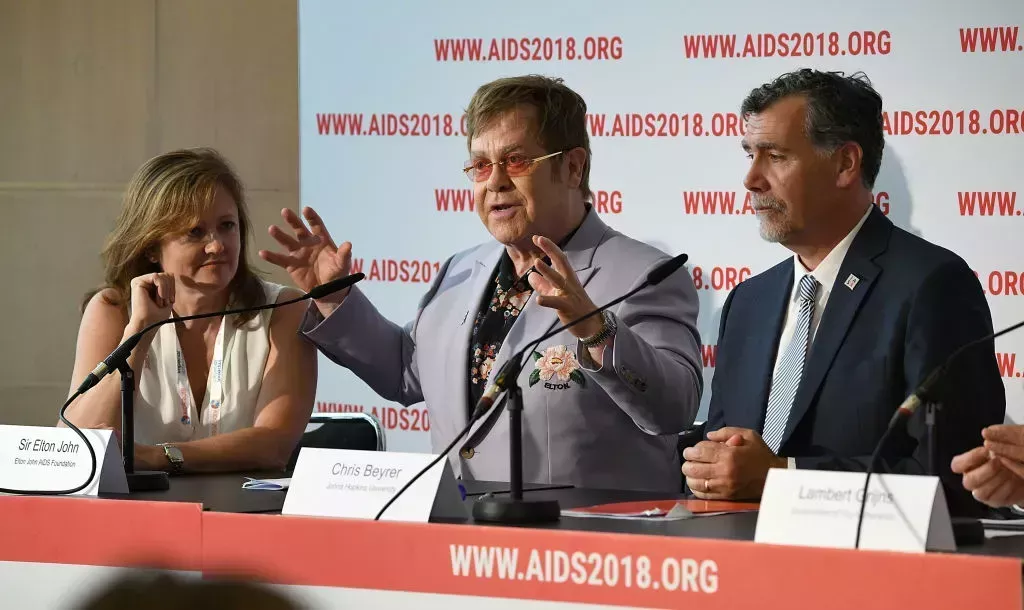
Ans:
[{"label": "white name card reading Sir Elton John on the table", "polygon": [[[128,493],[124,463],[112,430],[83,430],[96,452],[96,473],[84,489],[69,495]],[[0,487],[31,493],[62,491],[85,483],[89,449],[70,428],[0,425]]]}]

